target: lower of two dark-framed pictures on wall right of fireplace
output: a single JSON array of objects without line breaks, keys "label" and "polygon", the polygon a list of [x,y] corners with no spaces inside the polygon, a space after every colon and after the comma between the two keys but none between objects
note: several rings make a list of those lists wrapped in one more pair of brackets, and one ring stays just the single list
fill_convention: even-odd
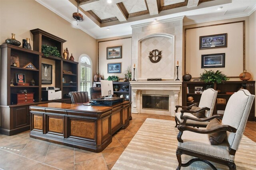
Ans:
[{"label": "lower of two dark-framed pictures on wall right of fireplace", "polygon": [[201,68],[225,67],[225,53],[201,55]]}]

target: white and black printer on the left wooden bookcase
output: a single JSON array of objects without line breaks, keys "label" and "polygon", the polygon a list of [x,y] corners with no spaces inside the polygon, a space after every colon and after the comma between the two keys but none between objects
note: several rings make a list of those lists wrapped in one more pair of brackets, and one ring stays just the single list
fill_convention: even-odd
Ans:
[{"label": "white and black printer on the left wooden bookcase", "polygon": [[46,87],[42,90],[42,101],[62,99],[60,88]]}]

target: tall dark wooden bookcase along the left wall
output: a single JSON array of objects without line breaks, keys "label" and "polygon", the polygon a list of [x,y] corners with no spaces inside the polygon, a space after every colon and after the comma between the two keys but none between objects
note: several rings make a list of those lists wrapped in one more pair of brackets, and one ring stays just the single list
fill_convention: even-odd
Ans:
[{"label": "tall dark wooden bookcase along the left wall", "polygon": [[[63,102],[71,103],[70,98],[65,98],[65,94],[70,91],[77,91],[78,82],[78,63],[69,61],[60,57],[49,56],[45,57],[42,51],[42,45],[52,45],[59,49],[62,53],[62,45],[66,40],[58,38],[52,34],[44,32],[40,29],[31,30],[34,34],[33,49],[29,50],[22,47],[17,47],[10,44],[3,44],[1,48],[1,129],[0,133],[6,135],[17,134],[26,130],[30,130],[30,111],[29,106],[48,103],[48,102]],[[18,56],[19,67],[12,66],[10,61],[12,56]],[[55,62],[55,87],[62,91],[62,99],[53,101],[42,101],[42,58],[50,59]],[[32,63],[36,69],[23,68],[24,65]],[[63,73],[71,71],[72,73]],[[16,83],[16,74],[23,74],[26,76],[26,83],[30,83],[32,79],[35,85],[20,86],[14,84],[11,86],[10,81]],[[65,77],[66,83],[62,82]],[[73,83],[69,83],[72,81]],[[68,84],[69,83],[69,84]],[[50,85],[49,85],[50,86]],[[34,103],[17,104],[17,93],[21,90],[27,90],[28,93],[34,93]]]}]

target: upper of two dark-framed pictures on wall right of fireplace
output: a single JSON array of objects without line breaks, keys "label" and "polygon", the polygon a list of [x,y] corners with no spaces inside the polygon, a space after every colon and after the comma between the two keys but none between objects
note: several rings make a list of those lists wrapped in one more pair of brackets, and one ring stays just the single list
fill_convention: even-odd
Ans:
[{"label": "upper of two dark-framed pictures on wall right of fireplace", "polygon": [[199,49],[227,47],[227,33],[200,36]]}]

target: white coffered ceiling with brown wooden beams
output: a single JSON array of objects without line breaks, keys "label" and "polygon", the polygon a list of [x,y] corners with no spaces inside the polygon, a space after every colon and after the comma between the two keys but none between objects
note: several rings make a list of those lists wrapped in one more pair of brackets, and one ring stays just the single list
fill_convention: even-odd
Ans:
[{"label": "white coffered ceiling with brown wooden beams", "polygon": [[[250,16],[256,0],[80,0],[76,22],[76,0],[36,0],[95,39],[132,34],[132,25],[184,16],[183,24],[196,24]],[[219,10],[218,10],[219,9]],[[154,22],[153,22],[154,21]]]}]

